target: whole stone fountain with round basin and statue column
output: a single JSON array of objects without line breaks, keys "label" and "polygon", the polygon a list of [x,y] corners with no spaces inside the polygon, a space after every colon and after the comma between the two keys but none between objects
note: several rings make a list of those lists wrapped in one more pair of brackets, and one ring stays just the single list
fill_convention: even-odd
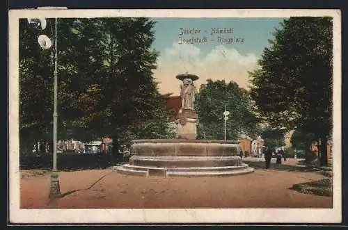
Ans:
[{"label": "whole stone fountain with round basin and statue column", "polygon": [[193,109],[193,81],[198,76],[180,74],[176,78],[182,81],[176,138],[132,140],[129,163],[117,167],[117,171],[139,176],[229,176],[253,172],[238,156],[237,140],[196,140],[198,116]]}]

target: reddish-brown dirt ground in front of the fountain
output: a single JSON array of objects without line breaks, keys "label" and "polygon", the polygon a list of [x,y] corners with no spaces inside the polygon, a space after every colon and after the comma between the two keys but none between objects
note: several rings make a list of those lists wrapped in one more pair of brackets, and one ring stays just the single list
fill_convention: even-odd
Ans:
[{"label": "reddish-brown dirt ground in front of the fountain", "polygon": [[164,178],[126,176],[113,170],[86,170],[59,172],[59,175],[63,194],[77,191],[50,202],[47,198],[49,174],[23,176],[21,208],[332,207],[332,197],[306,195],[289,189],[294,183],[324,178],[315,172],[256,169],[251,174],[239,176]]}]

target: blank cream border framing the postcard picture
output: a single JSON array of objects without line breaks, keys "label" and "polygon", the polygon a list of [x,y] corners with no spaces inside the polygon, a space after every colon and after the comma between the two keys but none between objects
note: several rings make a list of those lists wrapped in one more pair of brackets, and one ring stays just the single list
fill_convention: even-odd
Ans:
[{"label": "blank cream border framing the postcard picture", "polygon": [[[239,209],[20,209],[19,18],[31,17],[333,17],[333,208]],[[341,191],[340,10],[10,10],[9,11],[9,210],[13,223],[336,223]]]}]

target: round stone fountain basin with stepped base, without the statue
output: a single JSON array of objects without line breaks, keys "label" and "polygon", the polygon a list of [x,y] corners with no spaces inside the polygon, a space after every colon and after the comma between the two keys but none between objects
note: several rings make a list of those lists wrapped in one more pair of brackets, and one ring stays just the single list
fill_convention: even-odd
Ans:
[{"label": "round stone fountain basin with stepped base, without the statue", "polygon": [[230,176],[253,172],[237,156],[234,140],[133,140],[121,174],[139,176]]}]

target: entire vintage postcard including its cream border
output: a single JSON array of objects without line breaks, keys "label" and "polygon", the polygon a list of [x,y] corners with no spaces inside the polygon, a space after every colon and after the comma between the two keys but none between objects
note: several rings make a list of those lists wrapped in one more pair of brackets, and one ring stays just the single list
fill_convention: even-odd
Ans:
[{"label": "entire vintage postcard including its cream border", "polygon": [[340,222],[340,24],[10,10],[10,222]]}]

